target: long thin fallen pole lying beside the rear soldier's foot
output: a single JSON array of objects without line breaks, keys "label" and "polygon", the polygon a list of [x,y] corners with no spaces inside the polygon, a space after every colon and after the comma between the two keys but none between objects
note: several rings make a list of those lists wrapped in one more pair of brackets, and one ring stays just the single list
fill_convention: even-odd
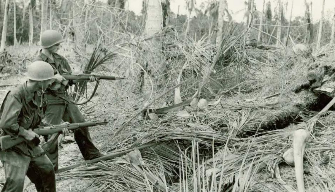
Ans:
[{"label": "long thin fallen pole lying beside the rear soldier's foot", "polygon": [[132,149],[127,149],[127,150],[124,150],[124,151],[111,153],[111,154],[108,154],[108,155],[105,155],[105,156],[102,156],[102,157],[98,157],[96,159],[92,159],[92,160],[76,163],[76,164],[73,164],[73,165],[69,165],[67,167],[63,167],[63,168],[58,169],[57,173],[68,171],[68,170],[74,169],[74,168],[79,167],[79,166],[88,165],[88,164],[92,164],[92,163],[97,163],[99,161],[110,160],[110,159],[113,159],[113,158],[118,157],[120,155],[124,155],[126,153],[131,152],[131,151],[134,151],[135,149],[140,150],[140,149],[144,149],[144,148],[147,148],[147,147],[152,147],[152,146],[155,146],[155,145],[158,145],[158,144],[161,144],[161,143],[163,143],[163,142],[148,143],[148,144],[145,144],[145,145],[142,145],[142,146],[139,146],[139,147],[135,147],[135,148],[132,148]]}]

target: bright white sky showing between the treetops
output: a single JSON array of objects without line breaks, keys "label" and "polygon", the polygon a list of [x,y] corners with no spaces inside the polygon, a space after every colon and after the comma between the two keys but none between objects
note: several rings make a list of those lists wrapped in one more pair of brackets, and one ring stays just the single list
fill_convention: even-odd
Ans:
[{"label": "bright white sky showing between the treetops", "polygon": [[[142,0],[128,0],[129,1],[129,9],[131,11],[134,11],[135,14],[140,14],[142,9]],[[214,0],[195,0],[196,7],[199,8],[202,2],[206,3],[206,6],[208,2],[214,1]],[[216,0],[219,1],[219,0]],[[243,21],[243,15],[244,15],[244,1],[245,0],[227,0],[228,3],[228,10],[230,14],[232,15],[233,20],[237,22]],[[262,11],[263,7],[263,0],[254,0],[256,4],[256,9],[258,11]],[[265,0],[267,2],[268,0]],[[272,9],[276,5],[275,0],[271,1],[271,7]],[[284,3],[288,3],[287,6],[287,14],[286,17],[289,18],[289,13],[291,10],[291,5],[293,2],[293,12],[292,12],[292,19],[296,16],[304,16],[305,14],[305,0],[282,0]],[[307,2],[312,2],[312,19],[313,21],[317,21],[321,18],[321,9],[322,9],[322,0],[307,0]],[[186,14],[186,0],[170,0],[170,8],[172,12],[177,14],[178,11],[178,5],[179,7],[179,14]],[[334,14],[334,7],[335,7],[335,0],[325,0],[325,17],[327,19],[330,19],[333,17]],[[285,7],[284,7],[285,9]],[[285,11],[284,11],[285,12]],[[273,12],[272,12],[273,13]]]}]

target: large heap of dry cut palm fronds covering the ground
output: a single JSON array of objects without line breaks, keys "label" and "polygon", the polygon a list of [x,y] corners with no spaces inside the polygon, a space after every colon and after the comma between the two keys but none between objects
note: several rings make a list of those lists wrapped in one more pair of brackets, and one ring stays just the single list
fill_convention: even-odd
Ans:
[{"label": "large heap of dry cut palm fronds covering the ground", "polygon": [[[233,28],[230,30],[234,33]],[[122,131],[101,134],[105,138],[104,153],[148,143],[162,144],[141,150],[139,162],[129,154],[73,169],[61,177],[93,178],[93,185],[101,191],[264,191],[266,181],[255,179],[259,171],[269,173],[274,181],[276,176],[279,179],[280,170],[288,166],[281,164],[278,169],[278,164],[282,153],[291,147],[290,132],[296,129],[288,125],[317,99],[308,90],[296,90],[309,83],[309,71],[320,72],[323,66],[316,65],[320,61],[289,59],[271,47],[246,45],[242,37],[228,35],[218,50],[206,38],[187,45],[176,42],[174,49],[166,50],[167,55],[171,54],[171,65],[167,82],[160,90],[175,86],[178,80],[191,79],[181,85],[182,98],[186,100],[198,90],[199,97],[215,98],[210,102],[215,104],[204,110],[186,106],[182,111],[149,119],[136,115],[141,114],[138,106],[145,102],[142,95],[133,97],[136,101],[121,101],[118,107],[124,112],[104,103],[103,110],[111,108],[115,122],[132,119]],[[216,72],[209,73],[212,69]],[[172,102],[172,96],[168,92],[161,100]],[[318,127],[323,128],[314,131],[315,138],[306,149],[307,159],[313,163],[307,181],[322,191],[334,187],[330,174],[335,168],[327,165],[331,171],[325,171],[325,166],[314,164],[319,161],[320,149],[335,146],[329,136],[335,128],[330,123],[333,120],[319,120]],[[112,128],[116,127],[115,122]],[[327,178],[318,171],[325,171]],[[289,176],[292,175],[293,172]],[[276,189],[282,184],[277,182]],[[294,182],[287,184],[294,186]]]}]

